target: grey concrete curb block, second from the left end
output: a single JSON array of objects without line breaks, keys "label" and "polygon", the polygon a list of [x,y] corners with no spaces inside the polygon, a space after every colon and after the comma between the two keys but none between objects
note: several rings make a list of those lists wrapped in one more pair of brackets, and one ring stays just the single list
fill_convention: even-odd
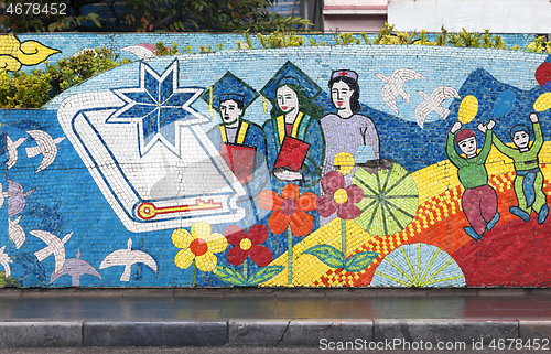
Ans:
[{"label": "grey concrete curb block, second from the left end", "polygon": [[219,346],[228,343],[226,321],[85,321],[85,346]]}]

